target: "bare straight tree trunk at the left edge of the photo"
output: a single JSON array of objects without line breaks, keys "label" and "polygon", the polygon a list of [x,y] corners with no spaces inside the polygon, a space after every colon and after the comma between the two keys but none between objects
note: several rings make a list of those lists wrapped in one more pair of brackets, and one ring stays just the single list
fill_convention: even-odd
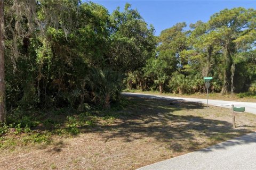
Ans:
[{"label": "bare straight tree trunk at the left edge of the photo", "polygon": [[4,80],[4,1],[0,1],[0,123],[6,120]]}]

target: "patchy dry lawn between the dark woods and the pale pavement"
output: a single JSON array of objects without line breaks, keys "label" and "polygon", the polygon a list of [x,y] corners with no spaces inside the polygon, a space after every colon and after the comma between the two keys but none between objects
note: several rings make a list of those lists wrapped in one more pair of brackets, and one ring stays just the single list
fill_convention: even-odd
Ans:
[{"label": "patchy dry lawn between the dark woods and the pale pavement", "polygon": [[[1,137],[0,169],[135,169],[256,130],[249,113],[236,114],[233,129],[230,109],[124,98],[119,111],[51,115],[27,133],[9,130]],[[35,134],[45,136],[36,142]]]}]

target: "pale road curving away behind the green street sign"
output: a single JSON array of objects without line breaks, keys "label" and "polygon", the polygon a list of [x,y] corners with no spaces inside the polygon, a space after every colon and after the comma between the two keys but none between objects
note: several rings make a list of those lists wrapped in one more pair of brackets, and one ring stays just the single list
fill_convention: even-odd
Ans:
[{"label": "pale road curving away behind the green street sign", "polygon": [[[132,93],[132,92],[123,92],[123,94],[124,95],[129,95],[129,96],[167,99],[167,100],[182,99],[182,100],[185,100],[185,101],[194,101],[194,102],[197,102],[197,103],[207,104],[206,99],[171,97],[171,96],[161,96],[161,95],[147,95],[147,94],[139,94],[139,93]],[[230,108],[230,109],[231,109],[231,105],[233,104],[236,107],[245,107],[245,112],[247,112],[247,113],[256,114],[256,103],[253,103],[253,102],[211,100],[211,99],[209,99],[208,104],[213,105],[213,106],[220,106],[220,107]]]}]

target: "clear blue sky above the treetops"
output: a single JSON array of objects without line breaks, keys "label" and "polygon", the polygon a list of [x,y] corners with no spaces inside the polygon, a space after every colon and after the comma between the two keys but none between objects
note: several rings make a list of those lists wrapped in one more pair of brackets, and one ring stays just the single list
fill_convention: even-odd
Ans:
[{"label": "clear blue sky above the treetops", "polygon": [[245,7],[256,9],[256,1],[92,1],[105,6],[112,13],[117,6],[123,10],[125,3],[137,8],[148,24],[153,24],[156,36],[175,23],[187,25],[198,20],[206,22],[210,16],[224,8]]}]

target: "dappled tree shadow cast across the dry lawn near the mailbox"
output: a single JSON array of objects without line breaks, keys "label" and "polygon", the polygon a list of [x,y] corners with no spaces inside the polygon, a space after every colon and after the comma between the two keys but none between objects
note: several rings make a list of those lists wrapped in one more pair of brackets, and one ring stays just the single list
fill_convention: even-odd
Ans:
[{"label": "dappled tree shadow cast across the dry lawn near the mailbox", "polygon": [[[166,148],[174,151],[200,149],[202,148],[200,147],[202,143],[199,142],[201,138],[207,138],[207,143],[214,145],[251,132],[246,129],[235,130],[232,128],[232,124],[227,121],[213,120],[186,113],[194,111],[194,109],[204,109],[205,106],[201,103],[162,97],[127,98],[134,101],[135,104],[119,112],[118,118],[121,123],[98,125],[93,129],[81,127],[81,130],[83,132],[102,133],[105,142],[117,138],[131,142],[150,137],[164,143]],[[180,114],[173,114],[176,111],[180,111]]]}]

